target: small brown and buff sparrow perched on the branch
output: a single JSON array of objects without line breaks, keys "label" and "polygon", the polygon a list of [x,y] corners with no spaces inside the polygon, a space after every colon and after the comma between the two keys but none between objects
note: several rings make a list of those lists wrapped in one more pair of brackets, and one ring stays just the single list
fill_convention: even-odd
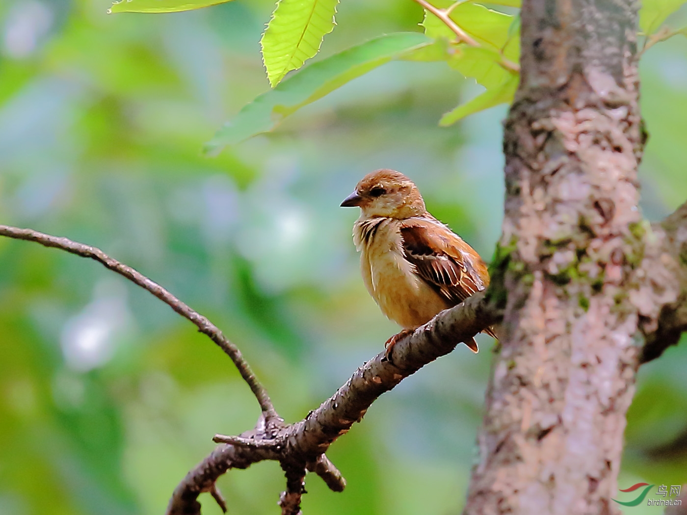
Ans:
[{"label": "small brown and buff sparrow perched on the branch", "polygon": [[[462,303],[489,284],[489,274],[475,250],[427,212],[420,190],[403,173],[377,170],[357,184],[341,207],[357,206],[353,226],[363,282],[382,313],[403,330],[394,344],[439,311]],[[496,338],[493,329],[484,332]],[[465,344],[479,351],[471,338]]]}]

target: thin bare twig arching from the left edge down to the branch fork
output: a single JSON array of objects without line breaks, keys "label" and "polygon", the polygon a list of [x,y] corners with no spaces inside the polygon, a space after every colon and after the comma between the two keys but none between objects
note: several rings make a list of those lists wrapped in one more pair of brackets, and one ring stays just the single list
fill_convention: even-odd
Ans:
[{"label": "thin bare twig arching from the left edge down to the branch fork", "polygon": [[132,267],[120,263],[116,259],[111,258],[102,250],[91,245],[85,245],[84,243],[78,243],[72,241],[65,237],[52,236],[50,234],[44,234],[43,232],[38,232],[32,229],[21,229],[18,227],[5,226],[0,224],[0,236],[6,236],[8,238],[23,239],[27,241],[34,241],[40,243],[45,247],[59,248],[61,250],[66,250],[71,254],[76,254],[85,258],[94,259],[104,265],[104,267],[117,272],[121,276],[126,277],[129,281],[139,285],[143,289],[146,289],[151,294],[155,295],[157,298],[166,303],[169,307],[177,311],[178,314],[190,320],[198,327],[201,333],[210,337],[210,339],[215,342],[227,355],[232,359],[241,377],[248,383],[251,391],[253,391],[258,403],[260,403],[260,408],[262,408],[262,413],[267,420],[268,426],[280,426],[281,420],[274,409],[269,395],[267,395],[267,390],[264,386],[260,384],[255,373],[251,369],[248,362],[241,355],[241,351],[238,350],[235,344],[230,342],[210,320],[205,318],[203,315],[199,314],[197,311],[191,309],[188,305],[181,302],[177,297],[172,295],[164,287],[151,281],[148,277],[144,276],[140,272],[137,272]]}]

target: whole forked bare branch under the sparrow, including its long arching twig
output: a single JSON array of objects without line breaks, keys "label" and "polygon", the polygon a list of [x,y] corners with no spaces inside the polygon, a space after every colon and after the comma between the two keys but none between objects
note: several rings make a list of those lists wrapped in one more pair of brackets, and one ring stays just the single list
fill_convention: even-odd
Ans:
[{"label": "whole forked bare branch under the sparrow, including its long arching twig", "polygon": [[95,259],[109,270],[128,278],[168,304],[187,318],[201,332],[216,342],[232,358],[241,375],[251,386],[262,415],[256,427],[238,436],[216,435],[224,441],[177,485],[170,498],[167,515],[199,515],[199,494],[210,492],[226,511],[226,503],[216,488],[216,480],[231,468],[247,468],[263,460],[279,461],[286,474],[286,491],[280,498],[282,515],[300,514],[306,470],[315,472],[335,492],[341,492],[346,480],[324,452],[344,435],[363,415],[374,400],[390,391],[405,377],[429,362],[451,352],[460,343],[499,322],[502,308],[480,292],[464,303],[442,311],[427,324],[396,342],[387,359],[381,352],[361,366],[350,379],[305,419],[285,426],[273,408],[267,392],[256,379],[238,348],[204,316],[185,305],[166,289],[127,265],[107,256],[102,250],[63,237],[43,234],[31,229],[0,225],[0,236],[41,243],[72,254]]}]

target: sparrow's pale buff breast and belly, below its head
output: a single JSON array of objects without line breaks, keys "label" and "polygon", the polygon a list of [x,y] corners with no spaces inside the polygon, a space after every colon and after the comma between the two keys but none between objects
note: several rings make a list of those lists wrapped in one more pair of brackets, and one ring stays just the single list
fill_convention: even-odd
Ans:
[{"label": "sparrow's pale buff breast and belly, below its head", "polygon": [[387,318],[412,329],[450,307],[403,256],[398,220],[360,219],[353,237],[365,287]]}]

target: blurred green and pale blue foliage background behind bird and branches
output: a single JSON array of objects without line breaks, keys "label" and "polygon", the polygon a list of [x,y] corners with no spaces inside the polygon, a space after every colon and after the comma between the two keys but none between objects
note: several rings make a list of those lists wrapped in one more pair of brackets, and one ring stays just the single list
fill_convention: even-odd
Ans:
[{"label": "blurred green and pale blue foliage background behind bird and branches", "polygon": [[[287,421],[396,331],[359,278],[357,215],[338,208],[363,174],[407,173],[434,215],[491,255],[505,110],[437,127],[480,91],[446,63],[386,64],[206,158],[203,142],[269,88],[258,42],[273,2],[157,16],[108,7],[0,3],[0,220],[98,245],[168,287],[240,346]],[[420,32],[422,14],[411,1],[347,1],[322,58]],[[643,209],[658,219],[687,197],[684,40],[646,53],[642,84]],[[210,340],[96,263],[0,239],[0,328],[2,515],[162,513],[212,435],[258,416]],[[489,341],[379,399],[330,451],[346,491],[309,477],[306,513],[458,512]],[[686,481],[687,453],[671,447],[687,431],[686,360],[683,345],[642,367],[622,487]],[[273,514],[283,483],[278,465],[259,463],[219,485],[232,513]]]}]

